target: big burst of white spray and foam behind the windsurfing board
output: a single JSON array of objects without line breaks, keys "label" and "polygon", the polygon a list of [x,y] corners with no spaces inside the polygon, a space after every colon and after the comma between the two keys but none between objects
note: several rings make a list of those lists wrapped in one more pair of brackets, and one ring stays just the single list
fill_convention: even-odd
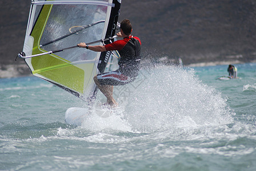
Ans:
[{"label": "big burst of white spray and foam behind the windsurfing board", "polygon": [[203,84],[192,69],[158,66],[153,70],[142,70],[135,82],[122,89],[114,88],[123,112],[107,118],[94,113],[83,121],[82,127],[90,131],[113,129],[149,133],[233,123],[234,113],[226,99],[216,89]]}]

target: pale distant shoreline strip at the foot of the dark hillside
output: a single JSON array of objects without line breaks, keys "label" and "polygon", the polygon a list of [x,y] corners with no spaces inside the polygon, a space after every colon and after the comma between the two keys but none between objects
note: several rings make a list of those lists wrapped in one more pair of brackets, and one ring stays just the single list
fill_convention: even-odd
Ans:
[{"label": "pale distant shoreline strip at the foot of the dark hillside", "polygon": [[[202,62],[184,65],[186,67],[205,67],[205,66],[219,66],[229,64],[242,64],[245,62],[239,60],[226,60],[226,61],[215,61],[215,62]],[[256,60],[251,60],[246,63],[256,63]],[[7,64],[4,68],[0,65],[0,79],[2,78],[18,78],[23,76],[32,76],[27,64]]]}]

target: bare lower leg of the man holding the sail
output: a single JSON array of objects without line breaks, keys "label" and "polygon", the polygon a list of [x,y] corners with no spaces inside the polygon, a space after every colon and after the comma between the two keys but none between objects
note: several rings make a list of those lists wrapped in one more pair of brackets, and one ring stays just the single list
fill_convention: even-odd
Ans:
[{"label": "bare lower leg of the man holding the sail", "polygon": [[101,83],[99,83],[99,81],[98,81],[97,76],[94,76],[93,79],[94,79],[95,84],[99,88],[99,90],[103,93],[103,95],[105,95],[107,97],[107,104],[109,104],[111,106],[117,106],[118,103],[113,98],[113,86],[101,85]]}]

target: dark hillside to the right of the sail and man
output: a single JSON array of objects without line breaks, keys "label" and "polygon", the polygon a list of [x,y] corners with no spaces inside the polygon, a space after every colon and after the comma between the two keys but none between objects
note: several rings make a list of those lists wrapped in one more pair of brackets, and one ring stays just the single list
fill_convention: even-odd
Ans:
[{"label": "dark hillside to the right of the sail and man", "polygon": [[256,59],[255,1],[129,0],[122,18],[133,22],[145,54],[179,56],[185,64]]}]

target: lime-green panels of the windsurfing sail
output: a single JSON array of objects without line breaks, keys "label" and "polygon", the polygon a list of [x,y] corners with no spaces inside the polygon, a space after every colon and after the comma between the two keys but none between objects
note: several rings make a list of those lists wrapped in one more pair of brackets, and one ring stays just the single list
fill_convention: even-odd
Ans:
[{"label": "lime-green panels of the windsurfing sail", "polygon": [[[53,5],[44,5],[41,15],[38,17],[31,36],[34,38],[33,55],[46,52],[39,47],[39,40],[42,35],[42,28],[45,28],[47,19],[49,18]],[[43,29],[44,30],[44,29]],[[73,66],[70,62],[59,59],[59,56],[44,55],[31,59],[34,68],[33,74],[42,75],[44,78],[53,80],[64,87],[74,89],[79,93],[83,93],[84,71]]]}]

